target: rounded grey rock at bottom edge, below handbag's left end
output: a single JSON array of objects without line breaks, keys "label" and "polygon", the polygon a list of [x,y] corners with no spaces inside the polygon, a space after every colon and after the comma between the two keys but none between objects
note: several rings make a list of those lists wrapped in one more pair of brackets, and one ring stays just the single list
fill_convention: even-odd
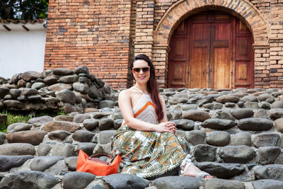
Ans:
[{"label": "rounded grey rock at bottom edge, below handbag's left end", "polygon": [[71,172],[64,175],[62,179],[64,189],[73,189],[74,186],[76,189],[83,189],[91,183],[95,175],[91,173],[84,173],[84,172]]}]

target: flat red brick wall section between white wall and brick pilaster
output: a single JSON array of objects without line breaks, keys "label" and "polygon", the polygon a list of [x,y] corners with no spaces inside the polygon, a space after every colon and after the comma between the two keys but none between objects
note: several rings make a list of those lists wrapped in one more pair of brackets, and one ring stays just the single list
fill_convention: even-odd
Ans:
[{"label": "flat red brick wall section between white wall and brick pilaster", "polygon": [[127,87],[131,1],[50,0],[45,69],[85,65]]}]

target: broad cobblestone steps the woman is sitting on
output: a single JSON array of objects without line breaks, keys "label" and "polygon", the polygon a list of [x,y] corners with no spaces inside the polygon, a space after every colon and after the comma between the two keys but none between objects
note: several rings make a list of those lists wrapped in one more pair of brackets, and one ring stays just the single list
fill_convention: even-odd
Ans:
[{"label": "broad cobblestone steps the woman is sitting on", "polygon": [[0,188],[283,187],[283,90],[161,88],[161,95],[177,136],[190,145],[193,164],[215,179],[204,182],[178,172],[148,180],[76,172],[77,149],[112,154],[111,137],[122,124],[116,98],[85,113],[9,125],[7,133],[0,132]]}]

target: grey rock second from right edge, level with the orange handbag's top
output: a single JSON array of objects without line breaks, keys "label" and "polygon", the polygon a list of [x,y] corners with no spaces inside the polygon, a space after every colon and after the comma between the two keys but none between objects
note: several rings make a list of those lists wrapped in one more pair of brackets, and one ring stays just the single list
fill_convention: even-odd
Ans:
[{"label": "grey rock second from right edge, level with the orange handbag's top", "polygon": [[255,150],[247,146],[226,146],[219,149],[219,156],[226,163],[246,164],[255,158]]}]

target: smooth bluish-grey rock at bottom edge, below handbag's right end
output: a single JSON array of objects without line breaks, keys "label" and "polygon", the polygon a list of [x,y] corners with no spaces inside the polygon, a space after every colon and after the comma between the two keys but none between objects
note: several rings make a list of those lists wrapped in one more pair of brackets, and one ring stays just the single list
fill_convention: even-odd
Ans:
[{"label": "smooth bluish-grey rock at bottom edge, below handbag's right end", "polygon": [[147,183],[146,179],[129,174],[112,174],[109,176],[104,176],[101,179],[105,181],[105,183],[107,183],[111,188],[115,189],[143,189],[149,186],[149,183]]}]

